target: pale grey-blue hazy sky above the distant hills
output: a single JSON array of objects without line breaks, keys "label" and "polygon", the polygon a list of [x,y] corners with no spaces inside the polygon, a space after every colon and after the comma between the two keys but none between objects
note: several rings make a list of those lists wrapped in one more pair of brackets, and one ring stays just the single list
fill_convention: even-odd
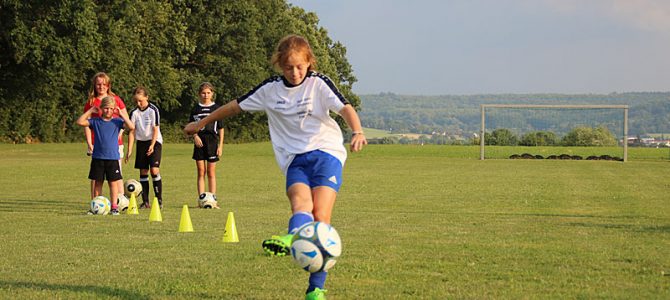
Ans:
[{"label": "pale grey-blue hazy sky above the distant hills", "polygon": [[669,0],[289,0],[347,48],[354,92],[670,91]]}]

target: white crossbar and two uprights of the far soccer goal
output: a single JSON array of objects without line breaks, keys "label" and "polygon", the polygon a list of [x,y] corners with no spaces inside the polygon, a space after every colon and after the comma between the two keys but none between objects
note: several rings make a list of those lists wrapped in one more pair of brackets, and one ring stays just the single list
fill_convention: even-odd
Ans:
[{"label": "white crossbar and two uprights of the far soccer goal", "polygon": [[551,104],[481,104],[479,159],[484,160],[484,136],[487,108],[540,108],[540,109],[621,109],[623,110],[623,161],[628,161],[628,105],[551,105]]}]

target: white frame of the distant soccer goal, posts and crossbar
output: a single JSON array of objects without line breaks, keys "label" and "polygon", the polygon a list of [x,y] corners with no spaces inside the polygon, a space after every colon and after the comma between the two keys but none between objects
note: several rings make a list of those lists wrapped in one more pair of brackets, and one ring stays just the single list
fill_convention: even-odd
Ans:
[{"label": "white frame of the distant soccer goal, posts and crossbar", "polygon": [[[542,105],[542,104],[481,104],[481,129],[479,136],[479,159],[485,159],[485,145],[486,145],[486,133],[487,133],[487,112],[491,112],[494,109],[508,109],[508,110],[518,110],[518,111],[530,111],[530,110],[561,110],[561,111],[577,111],[582,110],[589,112],[592,110],[604,111],[604,110],[620,110],[621,114],[616,113],[617,123],[621,122],[621,141],[623,146],[623,158],[624,162],[628,161],[628,105]],[[575,124],[578,125],[578,124]]]}]

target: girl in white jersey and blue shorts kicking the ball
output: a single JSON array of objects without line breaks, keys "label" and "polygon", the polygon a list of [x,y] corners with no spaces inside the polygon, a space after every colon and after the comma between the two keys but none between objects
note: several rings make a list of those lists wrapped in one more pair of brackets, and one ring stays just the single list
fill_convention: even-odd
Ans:
[{"label": "girl in white jersey and blue shorts kicking the ball", "polygon": [[[330,224],[335,198],[342,184],[347,157],[342,131],[330,112],[342,116],[351,128],[350,150],[367,144],[356,110],[325,75],[315,71],[316,58],[307,40],[289,35],[279,41],[271,63],[280,76],[263,81],[247,94],[184,128],[194,134],[216,120],[242,111],[264,111],[268,117],[275,159],[286,176],[286,195],[292,216],[288,234],[263,241],[274,256],[290,253],[293,234],[302,225]],[[310,273],[306,299],[325,299],[327,272]]]}]

